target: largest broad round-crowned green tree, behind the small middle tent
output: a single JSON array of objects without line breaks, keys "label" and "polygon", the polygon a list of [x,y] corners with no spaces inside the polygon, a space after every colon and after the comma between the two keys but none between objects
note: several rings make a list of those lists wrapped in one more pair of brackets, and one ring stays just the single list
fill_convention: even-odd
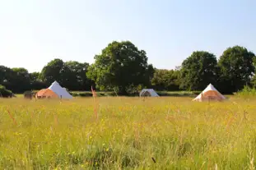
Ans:
[{"label": "largest broad round-crowned green tree, behind the small middle tent", "polygon": [[130,41],[110,43],[89,67],[87,76],[100,90],[117,90],[121,94],[128,87],[150,85],[153,67],[147,63],[147,54]]}]

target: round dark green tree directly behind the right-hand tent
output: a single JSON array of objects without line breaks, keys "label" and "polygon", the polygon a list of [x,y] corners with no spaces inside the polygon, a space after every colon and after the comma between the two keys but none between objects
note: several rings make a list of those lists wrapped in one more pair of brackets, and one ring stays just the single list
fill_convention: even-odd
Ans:
[{"label": "round dark green tree directly behind the right-hand tent", "polygon": [[205,51],[196,51],[184,60],[180,69],[180,88],[203,90],[208,84],[216,85],[218,67],[216,56]]}]

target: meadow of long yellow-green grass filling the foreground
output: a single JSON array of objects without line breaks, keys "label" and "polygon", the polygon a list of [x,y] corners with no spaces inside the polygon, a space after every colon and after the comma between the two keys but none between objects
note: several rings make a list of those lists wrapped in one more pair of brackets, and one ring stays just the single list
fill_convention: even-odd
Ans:
[{"label": "meadow of long yellow-green grass filling the foreground", "polygon": [[0,99],[0,169],[254,169],[256,99]]}]

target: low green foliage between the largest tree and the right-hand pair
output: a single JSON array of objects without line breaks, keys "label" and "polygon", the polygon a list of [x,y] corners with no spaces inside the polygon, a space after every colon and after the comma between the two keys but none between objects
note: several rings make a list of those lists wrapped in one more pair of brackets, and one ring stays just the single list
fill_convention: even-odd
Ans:
[{"label": "low green foliage between the largest tree and the right-hand pair", "polygon": [[156,69],[151,84],[155,90],[179,90],[179,71]]}]

